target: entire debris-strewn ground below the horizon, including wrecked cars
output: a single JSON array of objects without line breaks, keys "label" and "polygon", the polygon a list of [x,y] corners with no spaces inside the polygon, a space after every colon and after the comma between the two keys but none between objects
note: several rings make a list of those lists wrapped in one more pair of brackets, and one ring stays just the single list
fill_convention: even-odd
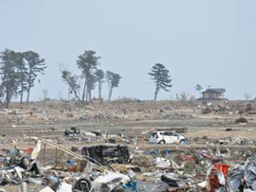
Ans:
[{"label": "entire debris-strewn ground below the horizon, including wrecked cars", "polygon": [[256,191],[254,103],[13,103],[0,191]]}]

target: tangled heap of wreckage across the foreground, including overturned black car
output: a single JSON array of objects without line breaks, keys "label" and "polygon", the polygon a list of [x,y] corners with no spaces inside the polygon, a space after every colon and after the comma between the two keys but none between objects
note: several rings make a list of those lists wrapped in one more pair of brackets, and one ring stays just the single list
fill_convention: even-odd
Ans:
[{"label": "tangled heap of wreckage across the foreground, including overturned black car", "polygon": [[250,155],[244,163],[234,164],[228,148],[132,154],[127,146],[101,145],[84,147],[78,154],[47,140],[36,141],[35,148],[4,151],[0,185],[17,185],[27,192],[256,190],[256,158]]}]

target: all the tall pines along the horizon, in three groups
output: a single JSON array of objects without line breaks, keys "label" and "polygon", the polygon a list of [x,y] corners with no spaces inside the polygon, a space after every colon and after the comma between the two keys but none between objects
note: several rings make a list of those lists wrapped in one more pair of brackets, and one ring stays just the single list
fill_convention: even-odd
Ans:
[{"label": "all the tall pines along the horizon, in three groups", "polygon": [[[85,50],[76,61],[81,74],[73,75],[68,69],[62,70],[62,79],[68,86],[68,97],[74,95],[82,104],[92,102],[92,91],[98,87],[98,99],[102,100],[102,84],[107,83],[108,100],[111,100],[113,90],[119,87],[121,76],[112,71],[104,72],[99,67],[101,57],[94,50]],[[0,104],[9,107],[13,97],[20,97],[20,103],[29,102],[30,91],[38,75],[45,75],[46,61],[34,51],[15,52],[5,49],[0,53]],[[150,73],[155,83],[154,99],[160,90],[170,91],[172,79],[170,72],[161,63],[155,63]],[[40,82],[40,79],[38,79]],[[82,81],[82,83],[81,83]]]}]

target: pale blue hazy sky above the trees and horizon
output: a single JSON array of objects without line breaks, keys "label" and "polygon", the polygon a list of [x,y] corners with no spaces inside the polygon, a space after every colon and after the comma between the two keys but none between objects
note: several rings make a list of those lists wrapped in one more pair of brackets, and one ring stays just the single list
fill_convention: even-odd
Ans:
[{"label": "pale blue hazy sky above the trees and horizon", "polygon": [[60,69],[80,75],[77,58],[90,49],[101,56],[101,69],[122,77],[114,98],[153,99],[148,73],[161,62],[173,88],[159,99],[197,96],[197,83],[243,99],[256,96],[255,9],[255,0],[0,0],[0,51],[33,50],[46,59],[33,100],[43,89],[66,98]]}]

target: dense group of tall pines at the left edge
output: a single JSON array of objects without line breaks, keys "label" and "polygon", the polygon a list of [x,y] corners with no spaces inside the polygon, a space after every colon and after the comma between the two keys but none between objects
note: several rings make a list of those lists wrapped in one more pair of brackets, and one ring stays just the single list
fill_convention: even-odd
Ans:
[{"label": "dense group of tall pines at the left edge", "polygon": [[23,103],[27,93],[29,102],[30,91],[34,87],[39,74],[44,75],[46,62],[33,51],[15,52],[6,49],[0,53],[0,103],[9,108],[13,97],[20,96]]}]

